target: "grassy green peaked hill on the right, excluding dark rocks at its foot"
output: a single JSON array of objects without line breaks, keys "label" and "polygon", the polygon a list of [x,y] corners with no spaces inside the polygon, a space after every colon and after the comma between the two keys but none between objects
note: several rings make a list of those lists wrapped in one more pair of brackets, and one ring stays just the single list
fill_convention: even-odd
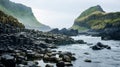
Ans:
[{"label": "grassy green peaked hill on the right, excluding dark rocks at its foot", "polygon": [[79,31],[90,29],[104,30],[106,28],[118,28],[119,26],[120,12],[105,13],[100,6],[94,6],[84,11],[75,19],[72,29],[77,29]]}]

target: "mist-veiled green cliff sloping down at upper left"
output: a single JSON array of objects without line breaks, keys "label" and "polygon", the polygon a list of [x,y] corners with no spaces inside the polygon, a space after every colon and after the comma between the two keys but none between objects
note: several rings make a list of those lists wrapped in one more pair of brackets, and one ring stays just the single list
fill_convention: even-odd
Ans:
[{"label": "mist-veiled green cliff sloping down at upper left", "polygon": [[0,0],[0,10],[8,15],[16,17],[26,28],[48,30],[49,26],[39,23],[30,7],[14,3],[9,0]]}]

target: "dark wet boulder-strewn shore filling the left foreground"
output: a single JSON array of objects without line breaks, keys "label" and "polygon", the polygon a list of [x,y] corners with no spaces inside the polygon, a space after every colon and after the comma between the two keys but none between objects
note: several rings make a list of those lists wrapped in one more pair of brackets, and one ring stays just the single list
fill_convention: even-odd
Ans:
[{"label": "dark wet boulder-strewn shore filling the left foreground", "polygon": [[[85,43],[65,35],[22,29],[0,35],[0,67],[40,67],[35,60],[56,63],[57,67],[72,66],[76,60],[71,52],[52,51],[58,45]],[[58,55],[58,57],[56,57]],[[46,67],[53,67],[46,65]]]}]

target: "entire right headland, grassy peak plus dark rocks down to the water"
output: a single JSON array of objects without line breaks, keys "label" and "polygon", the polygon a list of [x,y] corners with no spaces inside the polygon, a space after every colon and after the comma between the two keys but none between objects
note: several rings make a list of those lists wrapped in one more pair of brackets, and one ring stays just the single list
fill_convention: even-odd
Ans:
[{"label": "entire right headland, grassy peak plus dark rocks down to the water", "polygon": [[120,12],[106,13],[100,6],[94,6],[81,13],[71,28],[79,32],[97,32],[94,35],[102,36],[105,40],[120,40]]}]

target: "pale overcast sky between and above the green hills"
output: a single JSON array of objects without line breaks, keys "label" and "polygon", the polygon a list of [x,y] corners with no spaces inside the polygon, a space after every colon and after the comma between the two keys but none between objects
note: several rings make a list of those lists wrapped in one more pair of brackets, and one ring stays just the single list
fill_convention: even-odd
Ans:
[{"label": "pale overcast sky between and above the green hills", "polygon": [[82,11],[100,5],[106,12],[120,11],[120,0],[11,0],[32,8],[36,18],[52,28],[69,28]]}]

